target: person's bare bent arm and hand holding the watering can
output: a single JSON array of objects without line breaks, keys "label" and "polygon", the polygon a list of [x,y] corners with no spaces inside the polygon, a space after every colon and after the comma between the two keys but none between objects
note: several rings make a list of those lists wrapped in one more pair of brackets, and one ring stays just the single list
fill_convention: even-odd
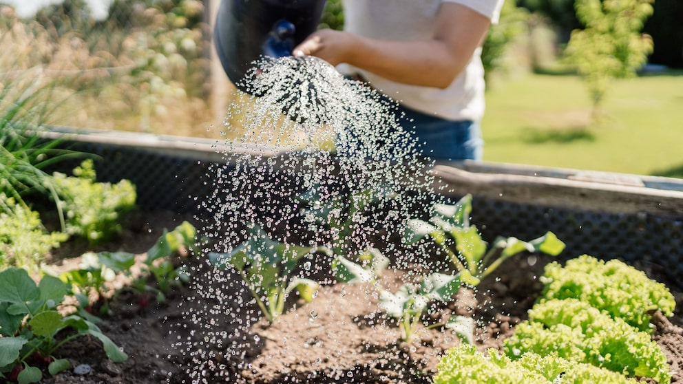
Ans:
[{"label": "person's bare bent arm and hand holding the watering can", "polygon": [[397,83],[445,88],[470,61],[490,20],[458,3],[441,3],[434,36],[425,41],[368,39],[349,32],[319,30],[294,48],[332,65],[348,63]]}]

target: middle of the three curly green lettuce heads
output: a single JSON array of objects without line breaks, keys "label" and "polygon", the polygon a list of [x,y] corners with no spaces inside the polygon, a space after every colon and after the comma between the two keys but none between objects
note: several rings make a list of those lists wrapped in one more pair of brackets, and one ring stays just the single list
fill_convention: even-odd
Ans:
[{"label": "middle of the three curly green lettuce heads", "polygon": [[628,376],[671,382],[666,356],[649,333],[578,299],[537,303],[504,344],[512,359],[527,352],[557,354]]}]

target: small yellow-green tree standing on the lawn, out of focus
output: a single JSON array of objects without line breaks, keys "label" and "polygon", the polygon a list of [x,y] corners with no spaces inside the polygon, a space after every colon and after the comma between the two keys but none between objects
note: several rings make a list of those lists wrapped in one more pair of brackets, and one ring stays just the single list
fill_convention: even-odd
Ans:
[{"label": "small yellow-green tree standing on the lawn, out of focus", "polygon": [[576,16],[586,26],[574,30],[565,59],[576,65],[593,102],[593,118],[614,78],[635,75],[653,50],[650,36],[640,33],[653,12],[654,0],[576,0]]}]

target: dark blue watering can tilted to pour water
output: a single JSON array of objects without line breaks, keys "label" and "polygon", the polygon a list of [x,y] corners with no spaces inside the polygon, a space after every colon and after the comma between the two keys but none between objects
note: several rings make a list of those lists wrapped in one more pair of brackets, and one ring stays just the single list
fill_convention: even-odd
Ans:
[{"label": "dark blue watering can tilted to pour water", "polygon": [[242,79],[263,56],[290,56],[315,32],[325,0],[222,0],[214,43],[223,70],[245,92]]}]

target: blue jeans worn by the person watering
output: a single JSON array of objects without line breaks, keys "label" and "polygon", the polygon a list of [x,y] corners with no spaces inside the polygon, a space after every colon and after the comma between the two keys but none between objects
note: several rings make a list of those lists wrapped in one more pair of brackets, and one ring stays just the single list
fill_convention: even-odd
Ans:
[{"label": "blue jeans worn by the person watering", "polygon": [[418,150],[423,156],[432,160],[481,160],[483,157],[479,122],[444,120],[402,105],[396,116],[399,125],[417,138]]}]

